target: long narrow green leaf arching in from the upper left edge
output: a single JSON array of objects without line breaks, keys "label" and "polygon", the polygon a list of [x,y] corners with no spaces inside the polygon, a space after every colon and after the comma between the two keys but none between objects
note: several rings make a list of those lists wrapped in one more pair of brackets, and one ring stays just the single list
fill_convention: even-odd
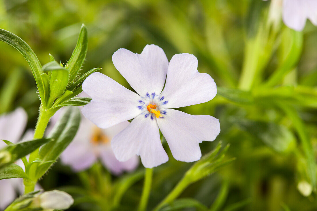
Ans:
[{"label": "long narrow green leaf arching in from the upper left edge", "polygon": [[43,73],[42,65],[33,50],[20,37],[4,29],[0,29],[0,41],[5,42],[16,48],[23,55],[23,57],[26,59],[26,61],[29,63],[29,66],[31,67],[33,76],[42,97],[43,87],[40,81],[40,75]]}]

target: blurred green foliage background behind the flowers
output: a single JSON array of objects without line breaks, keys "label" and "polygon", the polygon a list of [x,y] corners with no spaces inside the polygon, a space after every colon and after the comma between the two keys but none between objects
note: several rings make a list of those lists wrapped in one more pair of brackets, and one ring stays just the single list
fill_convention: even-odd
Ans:
[{"label": "blurred green foliage background behind the flowers", "polygon": [[[302,32],[288,29],[270,19],[269,6],[260,0],[0,0],[0,28],[27,42],[42,64],[49,53],[65,63],[84,23],[83,69],[103,67],[102,73],[130,89],[112,63],[118,48],[141,53],[153,43],[169,60],[194,54],[218,94],[180,110],[219,118],[220,135],[200,144],[201,150],[206,154],[219,141],[230,143],[226,156],[236,160],[191,184],[180,198],[196,199],[212,211],[317,210],[317,27],[307,21]],[[34,128],[40,101],[29,66],[9,45],[1,42],[0,49],[0,113],[22,106],[27,127]],[[154,169],[149,209],[192,165],[174,160],[163,144],[170,160]],[[111,189],[126,179],[136,183],[123,193],[119,209],[131,210],[139,202],[143,169],[119,178],[99,163],[78,174],[56,163],[40,183],[72,194],[73,210],[108,210]],[[312,194],[298,189],[303,181]]]}]

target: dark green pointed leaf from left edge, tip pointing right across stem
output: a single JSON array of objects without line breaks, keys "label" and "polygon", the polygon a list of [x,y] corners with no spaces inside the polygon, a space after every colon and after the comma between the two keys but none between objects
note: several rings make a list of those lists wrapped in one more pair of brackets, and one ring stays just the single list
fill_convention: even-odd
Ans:
[{"label": "dark green pointed leaf from left edge, tip pointing right across stem", "polygon": [[[31,141],[19,142],[17,144],[12,144],[11,142],[5,141],[5,140],[3,140],[3,141],[6,144],[9,144],[8,146],[6,146],[0,150],[0,152],[1,151],[8,151],[10,153],[11,161],[5,164],[5,165],[8,165],[8,164],[13,163],[16,160],[24,157],[24,156],[30,154],[31,152],[33,152],[34,150],[36,150],[37,148],[39,148],[43,144],[46,144],[49,141],[52,141],[52,139],[40,138],[40,139],[31,140]],[[1,165],[2,165],[2,167],[5,166],[5,165],[3,165],[3,163],[1,163]],[[1,165],[0,165],[0,168],[1,168]]]}]

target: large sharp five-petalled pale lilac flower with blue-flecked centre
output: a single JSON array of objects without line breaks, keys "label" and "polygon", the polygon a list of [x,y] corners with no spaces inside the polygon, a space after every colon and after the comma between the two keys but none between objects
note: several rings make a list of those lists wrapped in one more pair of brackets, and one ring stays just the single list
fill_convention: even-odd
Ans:
[{"label": "large sharp five-petalled pale lilac flower with blue-flecked centre", "polygon": [[168,62],[162,48],[156,45],[146,45],[141,54],[121,48],[112,58],[114,66],[137,93],[104,74],[91,74],[82,89],[92,101],[82,113],[100,128],[134,118],[111,141],[116,158],[126,161],[139,155],[146,168],[165,163],[168,156],[160,140],[160,129],[175,159],[199,160],[199,143],[213,141],[220,132],[218,119],[171,109],[215,97],[216,84],[210,75],[198,73],[197,58],[176,54]]}]

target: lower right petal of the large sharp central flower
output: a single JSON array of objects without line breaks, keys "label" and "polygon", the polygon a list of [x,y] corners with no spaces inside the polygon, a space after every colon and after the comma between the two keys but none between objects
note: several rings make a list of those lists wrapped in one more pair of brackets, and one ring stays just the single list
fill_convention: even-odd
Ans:
[{"label": "lower right petal of the large sharp central flower", "polygon": [[220,132],[218,119],[208,115],[194,116],[174,109],[166,109],[164,118],[157,118],[157,122],[173,157],[184,162],[199,160],[199,143],[215,140]]}]

